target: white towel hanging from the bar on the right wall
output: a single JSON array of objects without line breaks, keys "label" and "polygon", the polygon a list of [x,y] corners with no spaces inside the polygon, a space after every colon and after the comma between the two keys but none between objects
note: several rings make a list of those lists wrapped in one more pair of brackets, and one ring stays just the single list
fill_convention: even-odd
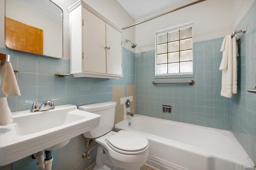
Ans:
[{"label": "white towel hanging from the bar on the right wall", "polygon": [[220,51],[223,51],[222,61],[220,63],[220,70],[222,70],[222,86],[220,95],[231,98],[232,94],[237,93],[237,64],[236,57],[238,54],[238,47],[236,41],[239,39],[237,35],[231,38],[227,35],[223,42]]}]

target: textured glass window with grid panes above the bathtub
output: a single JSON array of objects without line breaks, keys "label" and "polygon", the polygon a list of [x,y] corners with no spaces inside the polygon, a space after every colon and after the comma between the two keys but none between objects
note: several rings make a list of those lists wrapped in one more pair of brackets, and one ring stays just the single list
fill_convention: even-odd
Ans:
[{"label": "textured glass window with grid panes above the bathtub", "polygon": [[192,72],[192,27],[157,35],[157,74]]}]

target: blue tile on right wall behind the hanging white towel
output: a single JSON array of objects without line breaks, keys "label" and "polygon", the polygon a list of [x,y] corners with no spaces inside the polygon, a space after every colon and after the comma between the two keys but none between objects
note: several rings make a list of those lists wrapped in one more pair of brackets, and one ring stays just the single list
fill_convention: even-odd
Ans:
[{"label": "blue tile on right wall behind the hanging white towel", "polygon": [[239,34],[238,94],[231,99],[231,131],[256,162],[256,95],[248,88],[256,86],[256,1],[237,25],[236,30],[247,27]]}]

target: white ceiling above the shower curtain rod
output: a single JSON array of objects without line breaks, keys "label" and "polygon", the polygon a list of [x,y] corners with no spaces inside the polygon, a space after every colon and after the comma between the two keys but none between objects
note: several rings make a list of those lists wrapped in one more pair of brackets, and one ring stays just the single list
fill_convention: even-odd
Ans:
[{"label": "white ceiling above the shower curtain rod", "polygon": [[189,2],[191,0],[117,0],[137,20],[155,12]]}]

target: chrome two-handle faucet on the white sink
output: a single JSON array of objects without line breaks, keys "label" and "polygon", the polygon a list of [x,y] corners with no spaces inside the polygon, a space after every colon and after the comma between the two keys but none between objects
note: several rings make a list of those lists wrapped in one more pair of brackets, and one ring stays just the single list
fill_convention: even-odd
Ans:
[{"label": "chrome two-handle faucet on the white sink", "polygon": [[54,109],[55,108],[54,103],[53,103],[54,100],[60,100],[60,98],[45,101],[39,107],[38,107],[38,104],[36,102],[24,101],[24,103],[32,103],[32,107],[30,109],[30,112],[37,112],[37,111],[45,111],[45,110]]}]

